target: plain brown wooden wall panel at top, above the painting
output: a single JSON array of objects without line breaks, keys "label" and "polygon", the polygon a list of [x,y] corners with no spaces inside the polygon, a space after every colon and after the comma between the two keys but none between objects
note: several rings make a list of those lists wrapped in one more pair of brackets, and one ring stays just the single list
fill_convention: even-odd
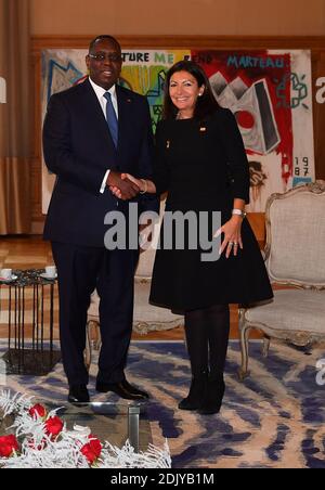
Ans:
[{"label": "plain brown wooden wall panel at top, above the painting", "polygon": [[[11,0],[13,1],[13,0]],[[32,35],[322,36],[324,0],[28,0]]]}]

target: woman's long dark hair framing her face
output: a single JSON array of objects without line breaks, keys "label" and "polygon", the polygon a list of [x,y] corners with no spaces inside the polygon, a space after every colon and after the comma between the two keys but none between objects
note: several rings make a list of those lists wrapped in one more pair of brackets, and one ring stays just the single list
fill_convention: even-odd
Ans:
[{"label": "woman's long dark hair framing her face", "polygon": [[162,113],[164,119],[172,119],[178,114],[178,108],[172,103],[169,94],[170,79],[177,72],[187,72],[196,79],[198,87],[205,86],[203,95],[197,98],[196,106],[194,109],[195,119],[203,120],[210,114],[214,113],[218,108],[220,108],[220,105],[218,104],[213,95],[209,79],[204,69],[197,63],[184,60],[176,63],[166,75]]}]

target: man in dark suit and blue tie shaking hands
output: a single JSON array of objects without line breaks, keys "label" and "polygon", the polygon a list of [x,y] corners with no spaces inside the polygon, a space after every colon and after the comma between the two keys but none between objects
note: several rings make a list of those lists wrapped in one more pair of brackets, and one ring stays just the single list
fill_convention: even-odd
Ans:
[{"label": "man in dark suit and blue tie shaking hands", "polygon": [[[43,126],[44,159],[56,175],[44,238],[52,243],[57,268],[68,400],[89,401],[83,350],[94,288],[102,335],[96,390],[139,400],[147,394],[125,376],[139,250],[105,248],[104,218],[120,211],[128,222],[130,199],[139,203],[139,212],[158,210],[156,198],[140,195],[136,185],[121,179],[121,172],[152,175],[151,117],[144,96],[117,85],[122,56],[115,38],[95,38],[86,63],[89,78],[51,96]],[[114,186],[121,190],[121,199],[112,194]]]}]

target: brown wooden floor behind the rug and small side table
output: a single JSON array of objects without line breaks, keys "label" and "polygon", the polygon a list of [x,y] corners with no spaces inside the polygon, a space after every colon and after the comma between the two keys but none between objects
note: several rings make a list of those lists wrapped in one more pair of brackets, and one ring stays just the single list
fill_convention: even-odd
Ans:
[{"label": "brown wooden floor behind the rug and small side table", "polygon": [[[42,269],[46,266],[52,265],[52,254],[50,244],[43,242],[40,236],[26,236],[26,237],[0,237],[0,269]],[[5,310],[5,286],[1,288],[1,310],[0,310],[0,337],[8,337],[8,320],[5,321],[3,310]],[[57,289],[55,287],[54,293],[54,337],[57,338],[57,325],[58,325],[58,306],[57,306]],[[31,298],[26,298],[28,301]],[[2,312],[2,320],[1,320]],[[28,321],[28,319],[27,319]],[[30,336],[30,335],[29,335]],[[26,332],[28,337],[28,330]],[[151,333],[148,335],[133,334],[134,339],[141,340],[176,340],[183,339],[183,328],[173,328],[161,333]],[[238,337],[238,309],[236,305],[231,306],[231,338]]]}]

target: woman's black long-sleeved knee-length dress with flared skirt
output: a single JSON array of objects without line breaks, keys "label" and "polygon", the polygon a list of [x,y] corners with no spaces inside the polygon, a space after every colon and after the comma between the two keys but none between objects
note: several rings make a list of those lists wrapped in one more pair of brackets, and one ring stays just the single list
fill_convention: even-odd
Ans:
[{"label": "woman's black long-sleeved knee-length dress with flared skirt", "polygon": [[[220,108],[204,122],[194,118],[160,121],[153,181],[158,194],[168,191],[166,211],[206,211],[211,238],[217,231],[212,229],[212,211],[221,211],[223,224],[232,216],[234,197],[249,203],[248,162],[231,111]],[[238,247],[237,257],[232,254],[229,259],[223,253],[214,261],[203,261],[206,250],[200,246],[191,249],[188,240],[184,249],[177,249],[176,238],[170,249],[165,249],[164,231],[162,224],[152,304],[185,311],[273,297],[259,245],[246,219],[242,225],[244,249]]]}]

